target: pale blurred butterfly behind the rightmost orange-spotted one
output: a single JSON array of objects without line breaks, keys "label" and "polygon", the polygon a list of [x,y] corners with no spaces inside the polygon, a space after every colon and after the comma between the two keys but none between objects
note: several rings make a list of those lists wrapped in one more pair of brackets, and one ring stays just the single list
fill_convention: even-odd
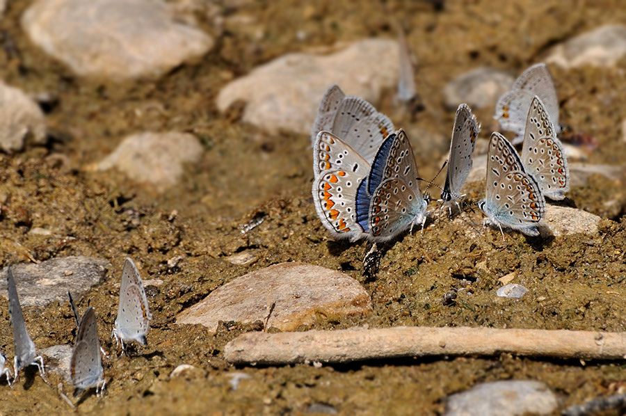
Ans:
[{"label": "pale blurred butterfly behind the rightmost orange-spotted one", "polygon": [[535,95],[545,104],[545,110],[554,123],[554,133],[561,132],[559,99],[556,97],[554,81],[547,66],[544,63],[538,63],[522,72],[513,83],[511,91],[502,95],[496,104],[495,118],[500,122],[501,127],[517,134],[517,137],[513,139],[513,144],[522,142],[528,109]]}]

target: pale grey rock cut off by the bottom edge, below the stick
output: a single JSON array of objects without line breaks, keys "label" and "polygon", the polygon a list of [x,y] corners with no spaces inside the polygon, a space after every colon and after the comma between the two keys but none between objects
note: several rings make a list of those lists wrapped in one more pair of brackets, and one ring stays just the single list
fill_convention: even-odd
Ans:
[{"label": "pale grey rock cut off by the bottom edge, below the stick", "polygon": [[444,416],[549,415],[559,401],[539,381],[495,381],[452,394],[446,400]]}]

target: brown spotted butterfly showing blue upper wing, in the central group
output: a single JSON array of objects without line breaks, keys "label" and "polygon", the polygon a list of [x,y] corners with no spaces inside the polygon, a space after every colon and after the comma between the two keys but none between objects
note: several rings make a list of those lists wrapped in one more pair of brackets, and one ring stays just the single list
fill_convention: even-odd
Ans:
[{"label": "brown spotted butterfly showing blue upper wing, in the central group", "polygon": [[[380,145],[356,205],[357,221],[374,242],[393,239],[415,224],[424,227],[428,198],[422,195],[411,143],[402,129]],[[366,225],[362,213],[367,205]]]}]

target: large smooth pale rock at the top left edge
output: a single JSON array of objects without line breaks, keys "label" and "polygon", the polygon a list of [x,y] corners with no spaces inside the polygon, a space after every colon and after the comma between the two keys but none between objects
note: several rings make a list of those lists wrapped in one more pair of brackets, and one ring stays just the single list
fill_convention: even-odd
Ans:
[{"label": "large smooth pale rock at the top left edge", "polygon": [[111,79],[158,76],[214,44],[162,0],[38,0],[22,26],[75,73]]}]

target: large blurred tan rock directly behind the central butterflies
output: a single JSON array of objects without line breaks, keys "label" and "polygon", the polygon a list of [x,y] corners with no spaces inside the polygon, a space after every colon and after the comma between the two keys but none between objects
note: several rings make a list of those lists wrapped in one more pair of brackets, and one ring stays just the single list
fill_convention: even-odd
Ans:
[{"label": "large blurred tan rock directly behind the central butterflies", "polygon": [[328,56],[288,54],[276,58],[225,86],[217,106],[225,111],[243,100],[247,103],[244,122],[271,132],[287,129],[310,134],[319,102],[330,84],[337,83],[346,94],[376,103],[383,88],[396,88],[398,74],[397,42],[362,40]]}]

